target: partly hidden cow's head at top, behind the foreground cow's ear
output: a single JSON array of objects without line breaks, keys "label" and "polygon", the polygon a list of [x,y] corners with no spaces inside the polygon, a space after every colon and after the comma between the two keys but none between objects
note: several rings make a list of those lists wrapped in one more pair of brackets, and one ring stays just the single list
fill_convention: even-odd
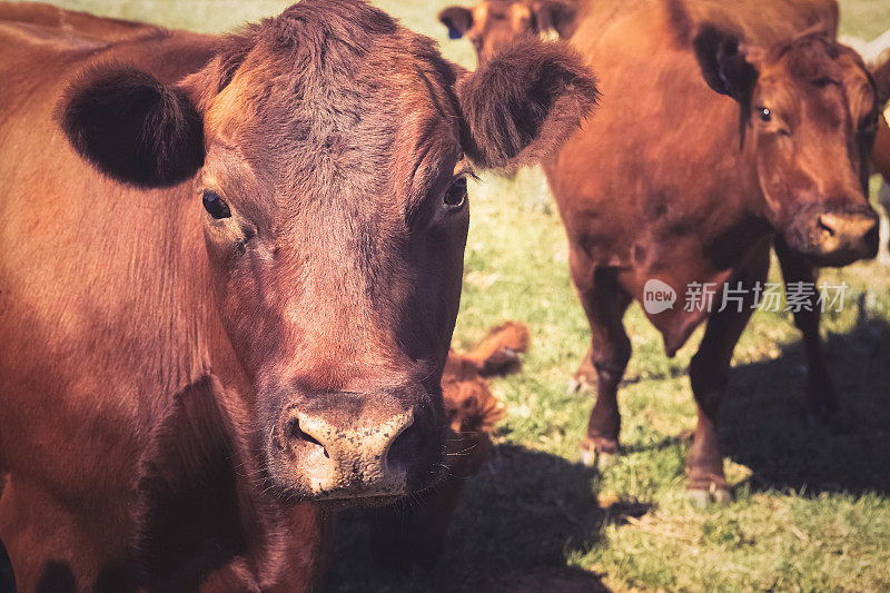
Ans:
[{"label": "partly hidden cow's head at top, behind the foreground cow's ear", "polygon": [[438,13],[438,20],[448,28],[449,38],[466,36],[483,65],[521,37],[567,38],[575,11],[565,0],[484,0],[474,8],[448,7]]}]

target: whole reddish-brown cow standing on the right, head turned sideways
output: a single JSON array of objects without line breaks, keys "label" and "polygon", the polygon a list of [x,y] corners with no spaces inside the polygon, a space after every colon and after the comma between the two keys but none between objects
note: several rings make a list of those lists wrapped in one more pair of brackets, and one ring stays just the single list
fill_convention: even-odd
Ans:
[{"label": "whole reddish-brown cow standing on the right, head turned sideways", "polygon": [[[860,57],[834,41],[833,1],[590,0],[578,14],[571,42],[596,60],[606,99],[544,168],[592,330],[575,374],[599,389],[582,453],[619,452],[616,393],[631,355],[622,317],[660,280],[666,289],[650,285],[651,296],[661,286],[680,300],[647,312],[669,356],[708,320],[690,368],[699,425],[688,487],[696,502],[726,501],[718,412],[771,244],[789,284],[877,251],[866,184],[879,97]],[[716,308],[726,286],[744,302],[711,314],[684,306],[710,283]],[[810,413],[831,419],[817,296],[794,317]]]}]

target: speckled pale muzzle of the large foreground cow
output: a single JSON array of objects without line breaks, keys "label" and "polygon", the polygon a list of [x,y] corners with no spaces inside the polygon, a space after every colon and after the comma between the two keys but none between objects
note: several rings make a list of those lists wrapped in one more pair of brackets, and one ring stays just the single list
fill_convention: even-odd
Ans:
[{"label": "speckled pale muzzle of the large foreground cow", "polygon": [[357,504],[426,488],[441,473],[444,417],[417,399],[386,392],[297,396],[273,428],[273,480],[301,497]]}]

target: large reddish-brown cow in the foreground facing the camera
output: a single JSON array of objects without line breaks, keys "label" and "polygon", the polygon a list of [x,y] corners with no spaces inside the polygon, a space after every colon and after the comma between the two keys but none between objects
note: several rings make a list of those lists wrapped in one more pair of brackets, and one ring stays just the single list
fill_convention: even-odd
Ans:
[{"label": "large reddish-brown cow in the foreground facing the camera", "polygon": [[553,150],[591,75],[540,42],[469,73],[359,0],[123,40],[18,10],[0,538],[19,586],[312,587],[316,502],[441,475],[465,176]]}]

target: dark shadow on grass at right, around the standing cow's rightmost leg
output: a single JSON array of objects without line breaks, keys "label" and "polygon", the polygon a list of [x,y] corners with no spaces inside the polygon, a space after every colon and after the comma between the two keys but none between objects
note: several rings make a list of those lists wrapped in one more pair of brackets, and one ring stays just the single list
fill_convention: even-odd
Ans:
[{"label": "dark shadow on grass at right, around the standing cow's rightmost leg", "polygon": [[841,399],[840,431],[811,427],[800,343],[734,368],[721,418],[724,455],[753,471],[754,490],[890,494],[890,325],[861,318],[825,344]]}]

